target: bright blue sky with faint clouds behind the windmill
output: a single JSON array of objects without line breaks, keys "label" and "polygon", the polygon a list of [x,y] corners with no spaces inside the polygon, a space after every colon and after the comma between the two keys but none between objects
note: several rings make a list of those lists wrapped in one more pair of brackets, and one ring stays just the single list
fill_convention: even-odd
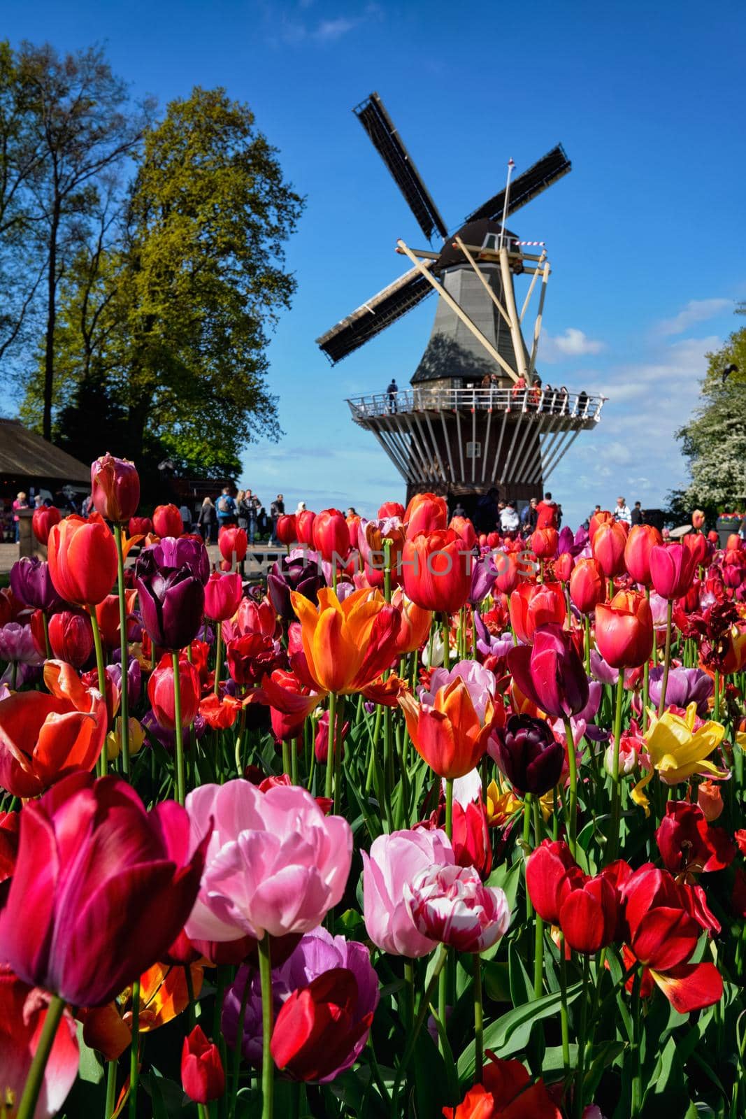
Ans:
[{"label": "bright blue sky with faint clouds behind the windmill", "polygon": [[271,344],[285,431],[248,449],[243,482],[294,508],[369,515],[403,483],[344,398],[406,384],[433,300],[330,368],[314,338],[406,271],[423,242],[350,110],[383,96],[450,228],[561,141],[573,172],[511,220],[546,241],[540,372],[610,397],[551,479],[576,523],[617,493],[662,504],[686,480],[673,439],[703,354],[744,320],[743,4],[443,0],[4,0],[2,35],[104,43],[133,94],[192,85],[247,101],[308,196],[287,250],[293,309]]}]

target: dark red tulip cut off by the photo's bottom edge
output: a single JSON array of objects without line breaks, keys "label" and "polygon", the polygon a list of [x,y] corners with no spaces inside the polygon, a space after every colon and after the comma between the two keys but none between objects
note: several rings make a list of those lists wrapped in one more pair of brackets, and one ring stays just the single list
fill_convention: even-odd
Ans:
[{"label": "dark red tulip cut off by the photo's bottom edge", "polygon": [[[457,1108],[443,1108],[445,1119],[561,1119],[540,1076],[531,1083],[520,1061],[502,1061],[489,1051],[488,1056],[482,1082],[469,1089]],[[583,1119],[596,1117],[584,1112]]]}]

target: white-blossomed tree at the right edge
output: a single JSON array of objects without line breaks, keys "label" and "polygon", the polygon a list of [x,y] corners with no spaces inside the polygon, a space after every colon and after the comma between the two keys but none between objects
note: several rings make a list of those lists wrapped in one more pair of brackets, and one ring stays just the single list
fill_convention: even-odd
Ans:
[{"label": "white-blossomed tree at the right edge", "polygon": [[[712,519],[746,500],[746,328],[707,358],[705,402],[677,432],[691,483],[672,496],[672,511],[701,508]],[[726,373],[731,365],[738,368]]]}]

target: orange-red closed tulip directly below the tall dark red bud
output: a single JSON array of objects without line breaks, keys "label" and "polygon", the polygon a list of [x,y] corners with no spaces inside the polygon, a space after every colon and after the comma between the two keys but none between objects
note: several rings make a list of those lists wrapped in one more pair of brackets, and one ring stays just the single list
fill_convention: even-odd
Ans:
[{"label": "orange-red closed tulip directly below the tall dark red bud", "polygon": [[116,546],[102,518],[75,514],[49,530],[49,574],[57,593],[75,605],[95,605],[116,579]]}]

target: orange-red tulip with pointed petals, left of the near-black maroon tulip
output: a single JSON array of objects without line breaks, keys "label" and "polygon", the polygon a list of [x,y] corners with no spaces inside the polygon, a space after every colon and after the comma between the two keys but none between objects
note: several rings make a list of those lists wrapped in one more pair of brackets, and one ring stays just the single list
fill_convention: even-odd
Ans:
[{"label": "orange-red tulip with pointed petals, left of the near-black maroon tulip", "polygon": [[484,721],[480,723],[469,688],[457,676],[438,688],[432,707],[418,704],[409,693],[399,696],[399,706],[417,753],[438,777],[445,778],[464,777],[474,769],[498,717],[488,698]]}]

